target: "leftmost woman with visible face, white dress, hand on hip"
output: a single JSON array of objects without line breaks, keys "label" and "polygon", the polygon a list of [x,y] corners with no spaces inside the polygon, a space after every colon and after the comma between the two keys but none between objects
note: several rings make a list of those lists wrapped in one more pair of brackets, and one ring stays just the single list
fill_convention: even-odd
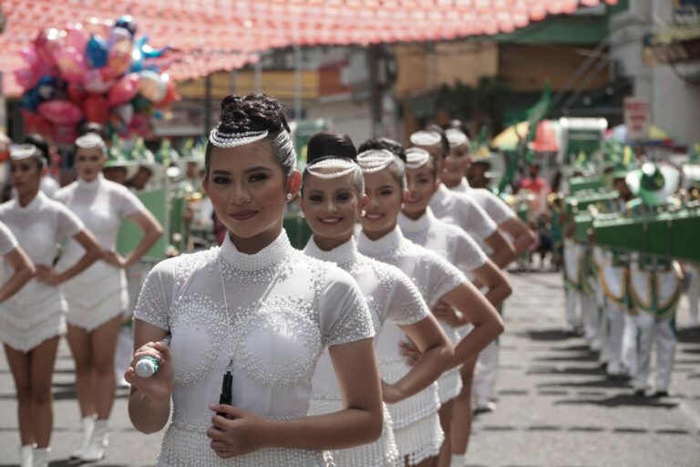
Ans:
[{"label": "leftmost woman with visible face, white dress, hand on hip", "polygon": [[[0,340],[17,389],[22,466],[43,467],[48,464],[53,428],[51,379],[58,340],[66,332],[67,303],[61,285],[97,261],[100,251],[74,213],[39,191],[46,173],[41,151],[23,145],[11,150],[10,157],[17,197],[0,205],[0,222],[36,265],[36,276],[0,304]],[[59,273],[53,268],[57,244],[67,239],[75,239],[84,251]]]}]

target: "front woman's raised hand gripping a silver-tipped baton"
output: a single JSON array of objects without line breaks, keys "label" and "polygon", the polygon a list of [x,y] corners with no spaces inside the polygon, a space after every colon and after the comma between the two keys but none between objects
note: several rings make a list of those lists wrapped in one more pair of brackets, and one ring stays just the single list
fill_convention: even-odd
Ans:
[{"label": "front woman's raised hand gripping a silver-tipped baton", "polygon": [[[158,371],[150,378],[139,377],[134,369],[139,359],[144,357],[152,357],[158,360]],[[124,373],[124,379],[126,379],[131,386],[138,389],[143,397],[154,402],[168,403],[170,403],[174,376],[170,348],[163,341],[149,342],[145,346],[139,348],[136,353],[134,353],[131,366],[127,369],[126,373]]]}]

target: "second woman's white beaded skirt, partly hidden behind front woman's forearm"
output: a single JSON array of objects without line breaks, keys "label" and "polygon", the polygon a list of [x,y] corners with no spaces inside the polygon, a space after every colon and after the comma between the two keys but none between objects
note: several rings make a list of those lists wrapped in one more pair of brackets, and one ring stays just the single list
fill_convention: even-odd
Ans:
[{"label": "second woman's white beaded skirt, partly hidden behind front woman's forearm", "polygon": [[[395,467],[398,460],[398,450],[394,440],[391,415],[384,407],[384,425],[379,439],[350,449],[331,451],[333,461],[338,467]],[[312,399],[309,415],[321,415],[343,410],[342,400]]]}]

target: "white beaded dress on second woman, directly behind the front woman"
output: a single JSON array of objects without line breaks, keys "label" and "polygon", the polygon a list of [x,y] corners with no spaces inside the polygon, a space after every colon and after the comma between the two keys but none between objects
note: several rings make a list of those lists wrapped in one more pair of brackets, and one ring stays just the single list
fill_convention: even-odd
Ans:
[{"label": "white beaded dress on second woman, directly behind the front woman", "polygon": [[[355,240],[325,252],[315,244],[312,237],[306,244],[304,253],[316,259],[334,263],[353,276],[365,296],[377,334],[386,320],[396,325],[407,326],[429,316],[430,311],[427,309],[426,302],[407,275],[395,266],[386,265],[359,254]],[[312,415],[343,409],[343,401],[328,352],[324,352],[318,360],[312,383],[314,385],[310,411]],[[394,467],[398,459],[398,450],[394,440],[391,415],[386,410],[386,405],[384,428],[377,441],[352,449],[334,451],[333,457],[338,466]]]}]

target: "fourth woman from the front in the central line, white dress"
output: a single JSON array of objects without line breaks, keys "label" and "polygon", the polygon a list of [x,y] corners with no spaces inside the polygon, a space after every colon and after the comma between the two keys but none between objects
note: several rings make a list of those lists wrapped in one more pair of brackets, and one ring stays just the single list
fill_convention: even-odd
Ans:
[{"label": "fourth woman from the front in the central line, white dress", "polygon": [[[398,217],[401,231],[408,240],[425,246],[448,260],[450,264],[457,265],[459,270],[468,275],[471,280],[485,287],[485,296],[491,305],[499,306],[507,296],[510,296],[508,279],[468,233],[457,225],[438,220],[430,210],[428,204],[439,184],[438,171],[432,156],[427,150],[419,148],[409,148],[406,153],[409,195]],[[456,345],[465,333],[453,326],[459,319],[455,309],[446,304],[438,304],[433,307],[433,313],[440,319],[440,324],[452,343]],[[465,420],[464,410],[455,414],[455,407],[458,407],[458,398],[471,397],[471,380],[468,377],[471,376],[475,363],[476,360],[472,359],[462,368],[453,368],[438,379],[442,404],[440,416],[443,429],[446,431],[445,435],[450,439],[449,443],[443,444],[443,450],[440,452],[441,460],[450,458],[451,452],[448,448],[454,451],[454,446],[451,446],[451,441],[455,438],[452,425],[455,424],[461,429],[465,425],[470,427],[471,414],[467,414]],[[460,372],[467,375],[467,378],[461,378]],[[466,387],[463,387],[463,383]],[[445,427],[448,428],[445,429]],[[458,465],[459,462],[464,464],[461,458],[455,457],[453,462],[457,462]]]}]

